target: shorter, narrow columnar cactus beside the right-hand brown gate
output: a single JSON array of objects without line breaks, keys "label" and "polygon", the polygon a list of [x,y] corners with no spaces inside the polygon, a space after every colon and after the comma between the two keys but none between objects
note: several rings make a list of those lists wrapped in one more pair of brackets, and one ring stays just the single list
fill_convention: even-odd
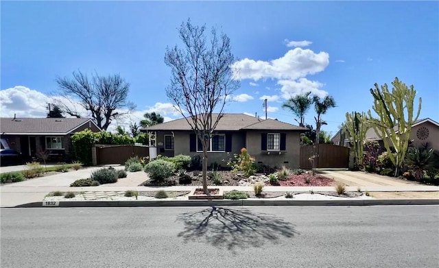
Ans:
[{"label": "shorter, narrow columnar cactus beside the right-hand brown gate", "polygon": [[365,112],[346,112],[346,122],[344,123],[344,130],[351,136],[351,142],[353,144],[354,166],[360,167],[363,165],[363,153],[364,153],[364,139],[366,138],[366,132],[370,127],[368,117]]}]

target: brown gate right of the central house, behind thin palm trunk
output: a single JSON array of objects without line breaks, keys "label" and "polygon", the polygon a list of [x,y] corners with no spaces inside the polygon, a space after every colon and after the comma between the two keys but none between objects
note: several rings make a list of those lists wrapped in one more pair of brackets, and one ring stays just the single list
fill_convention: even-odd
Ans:
[{"label": "brown gate right of the central house, behind thin palm trunk", "polygon": [[300,168],[311,169],[309,158],[316,154],[317,168],[348,168],[349,148],[332,144],[306,145],[300,147]]}]

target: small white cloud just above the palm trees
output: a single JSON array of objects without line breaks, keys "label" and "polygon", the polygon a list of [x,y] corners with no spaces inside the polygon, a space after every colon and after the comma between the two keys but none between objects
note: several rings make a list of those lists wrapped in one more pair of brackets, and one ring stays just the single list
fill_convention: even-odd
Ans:
[{"label": "small white cloud just above the palm trees", "polygon": [[297,81],[279,80],[277,84],[282,86],[281,93],[284,99],[289,99],[294,95],[307,93],[309,91],[311,91],[313,95],[317,95],[319,97],[328,95],[326,91],[320,89],[323,84],[317,81],[307,80],[306,78],[300,78]]}]

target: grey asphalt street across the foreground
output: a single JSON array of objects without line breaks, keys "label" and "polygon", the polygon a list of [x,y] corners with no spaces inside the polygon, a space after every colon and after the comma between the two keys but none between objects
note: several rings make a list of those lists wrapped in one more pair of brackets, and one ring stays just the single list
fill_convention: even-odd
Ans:
[{"label": "grey asphalt street across the foreground", "polygon": [[439,267],[439,206],[2,208],[1,267]]}]

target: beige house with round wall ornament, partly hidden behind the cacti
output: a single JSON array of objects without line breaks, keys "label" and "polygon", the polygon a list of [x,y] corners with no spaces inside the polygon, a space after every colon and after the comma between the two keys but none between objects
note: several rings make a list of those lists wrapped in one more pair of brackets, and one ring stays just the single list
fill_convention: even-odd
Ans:
[{"label": "beige house with round wall ornament, partly hidden behind the cacti", "polygon": [[[395,127],[395,130],[397,132],[398,128]],[[333,141],[335,145],[346,147],[350,147],[349,140],[349,135],[344,134],[341,130],[331,138],[331,141]],[[381,146],[383,146],[381,138],[379,138],[377,132],[375,132],[373,128],[370,128],[366,132],[366,141],[379,141]],[[427,143],[429,147],[439,150],[439,123],[429,118],[416,120],[412,125],[412,130],[410,130],[410,141],[412,141],[412,145],[415,147]]]}]

